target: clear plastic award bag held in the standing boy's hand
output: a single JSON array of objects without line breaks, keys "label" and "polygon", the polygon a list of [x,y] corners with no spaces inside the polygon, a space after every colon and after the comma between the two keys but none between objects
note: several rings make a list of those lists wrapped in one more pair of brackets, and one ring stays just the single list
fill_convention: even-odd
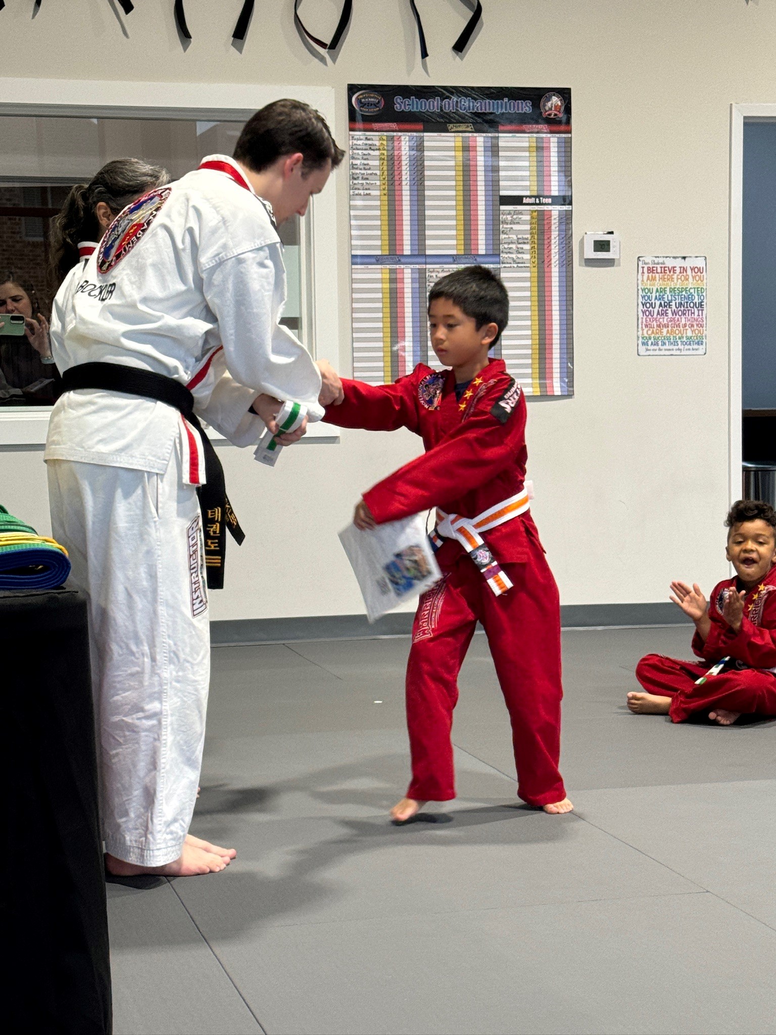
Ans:
[{"label": "clear plastic award bag held in the standing boy's hand", "polygon": [[370,622],[442,578],[425,528],[425,514],[361,531],[349,525],[339,541],[356,573]]}]

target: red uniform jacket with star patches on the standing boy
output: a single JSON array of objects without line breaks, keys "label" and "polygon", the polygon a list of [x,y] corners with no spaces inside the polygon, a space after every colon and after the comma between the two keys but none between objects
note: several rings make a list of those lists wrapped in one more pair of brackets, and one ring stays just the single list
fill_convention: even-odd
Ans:
[{"label": "red uniform jacket with star patches on the standing boy", "polygon": [[[438,373],[418,363],[391,385],[342,381],[345,402],[329,406],[324,420],[341,427],[391,432],[409,427],[420,435],[426,452],[379,481],[364,502],[382,524],[441,507],[447,513],[476,518],[516,495],[526,479],[526,400],[506,372],[491,359],[472,381],[460,403],[452,371]],[[528,560],[526,536],[538,540],[528,513],[489,532],[486,540],[504,563]],[[438,554],[452,563],[462,548],[447,540]]]}]

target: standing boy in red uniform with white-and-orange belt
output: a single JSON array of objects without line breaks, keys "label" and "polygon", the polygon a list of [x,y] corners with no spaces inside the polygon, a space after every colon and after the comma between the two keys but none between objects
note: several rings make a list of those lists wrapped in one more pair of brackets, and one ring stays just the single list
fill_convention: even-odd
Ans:
[{"label": "standing boy in red uniform with white-and-orange belt", "polygon": [[345,401],[324,418],[368,431],[409,427],[426,448],[364,493],[358,528],[441,508],[431,538],[443,579],[421,596],[415,616],[407,669],[412,780],[391,810],[396,822],[426,801],[455,797],[450,731],[477,621],[509,710],[517,794],[546,812],[573,807],[558,771],[558,588],[524,484],[526,400],[503,360],[488,358],[508,317],[506,289],[484,267],[442,277],[428,296],[428,321],[437,358],[450,369],[418,363],[395,384],[344,381]]}]

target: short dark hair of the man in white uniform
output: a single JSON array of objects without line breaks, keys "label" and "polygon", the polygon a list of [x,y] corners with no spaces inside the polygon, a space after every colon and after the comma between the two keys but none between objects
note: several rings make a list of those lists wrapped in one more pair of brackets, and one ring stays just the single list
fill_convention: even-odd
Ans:
[{"label": "short dark hair of the man in white uniform", "polygon": [[283,154],[304,155],[303,173],[331,162],[336,169],[345,156],[326,119],[301,100],[273,100],[252,115],[235,145],[234,157],[261,173]]}]

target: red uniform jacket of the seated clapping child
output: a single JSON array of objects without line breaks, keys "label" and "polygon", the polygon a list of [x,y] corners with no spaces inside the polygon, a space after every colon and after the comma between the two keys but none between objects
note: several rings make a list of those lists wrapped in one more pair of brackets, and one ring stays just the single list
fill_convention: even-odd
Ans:
[{"label": "red uniform jacket of the seated clapping child", "polygon": [[709,601],[711,630],[706,643],[696,632],[692,649],[707,661],[719,661],[729,655],[750,669],[776,669],[776,566],[756,589],[747,593],[739,632],[734,632],[722,618],[725,590],[734,588],[736,582],[726,579],[714,587]]}]

